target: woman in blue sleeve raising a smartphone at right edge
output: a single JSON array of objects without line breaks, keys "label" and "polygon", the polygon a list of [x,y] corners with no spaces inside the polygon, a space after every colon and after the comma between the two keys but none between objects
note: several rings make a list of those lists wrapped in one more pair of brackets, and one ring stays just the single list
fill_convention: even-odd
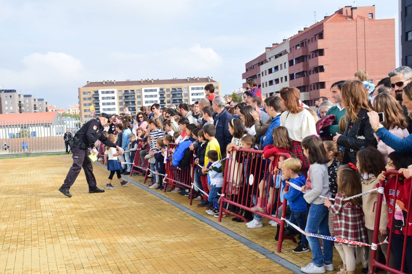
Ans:
[{"label": "woman in blue sleeve raising a smartphone at right edge", "polygon": [[[407,108],[409,115],[411,116],[412,83],[407,84],[406,87],[403,88],[402,99],[402,105]],[[385,115],[387,115],[386,111]],[[377,112],[372,111],[368,113],[368,116],[372,128],[375,130],[377,136],[380,140],[382,140],[383,143],[385,143],[387,146],[391,147],[393,150],[397,152],[412,152],[412,134],[405,138],[396,136],[395,134],[391,133],[390,128],[388,130],[388,127],[384,125],[384,122],[379,122],[379,115]],[[400,116],[405,117],[403,113],[396,114],[396,117]],[[385,117],[385,121],[390,121],[389,119],[389,117]]]}]

